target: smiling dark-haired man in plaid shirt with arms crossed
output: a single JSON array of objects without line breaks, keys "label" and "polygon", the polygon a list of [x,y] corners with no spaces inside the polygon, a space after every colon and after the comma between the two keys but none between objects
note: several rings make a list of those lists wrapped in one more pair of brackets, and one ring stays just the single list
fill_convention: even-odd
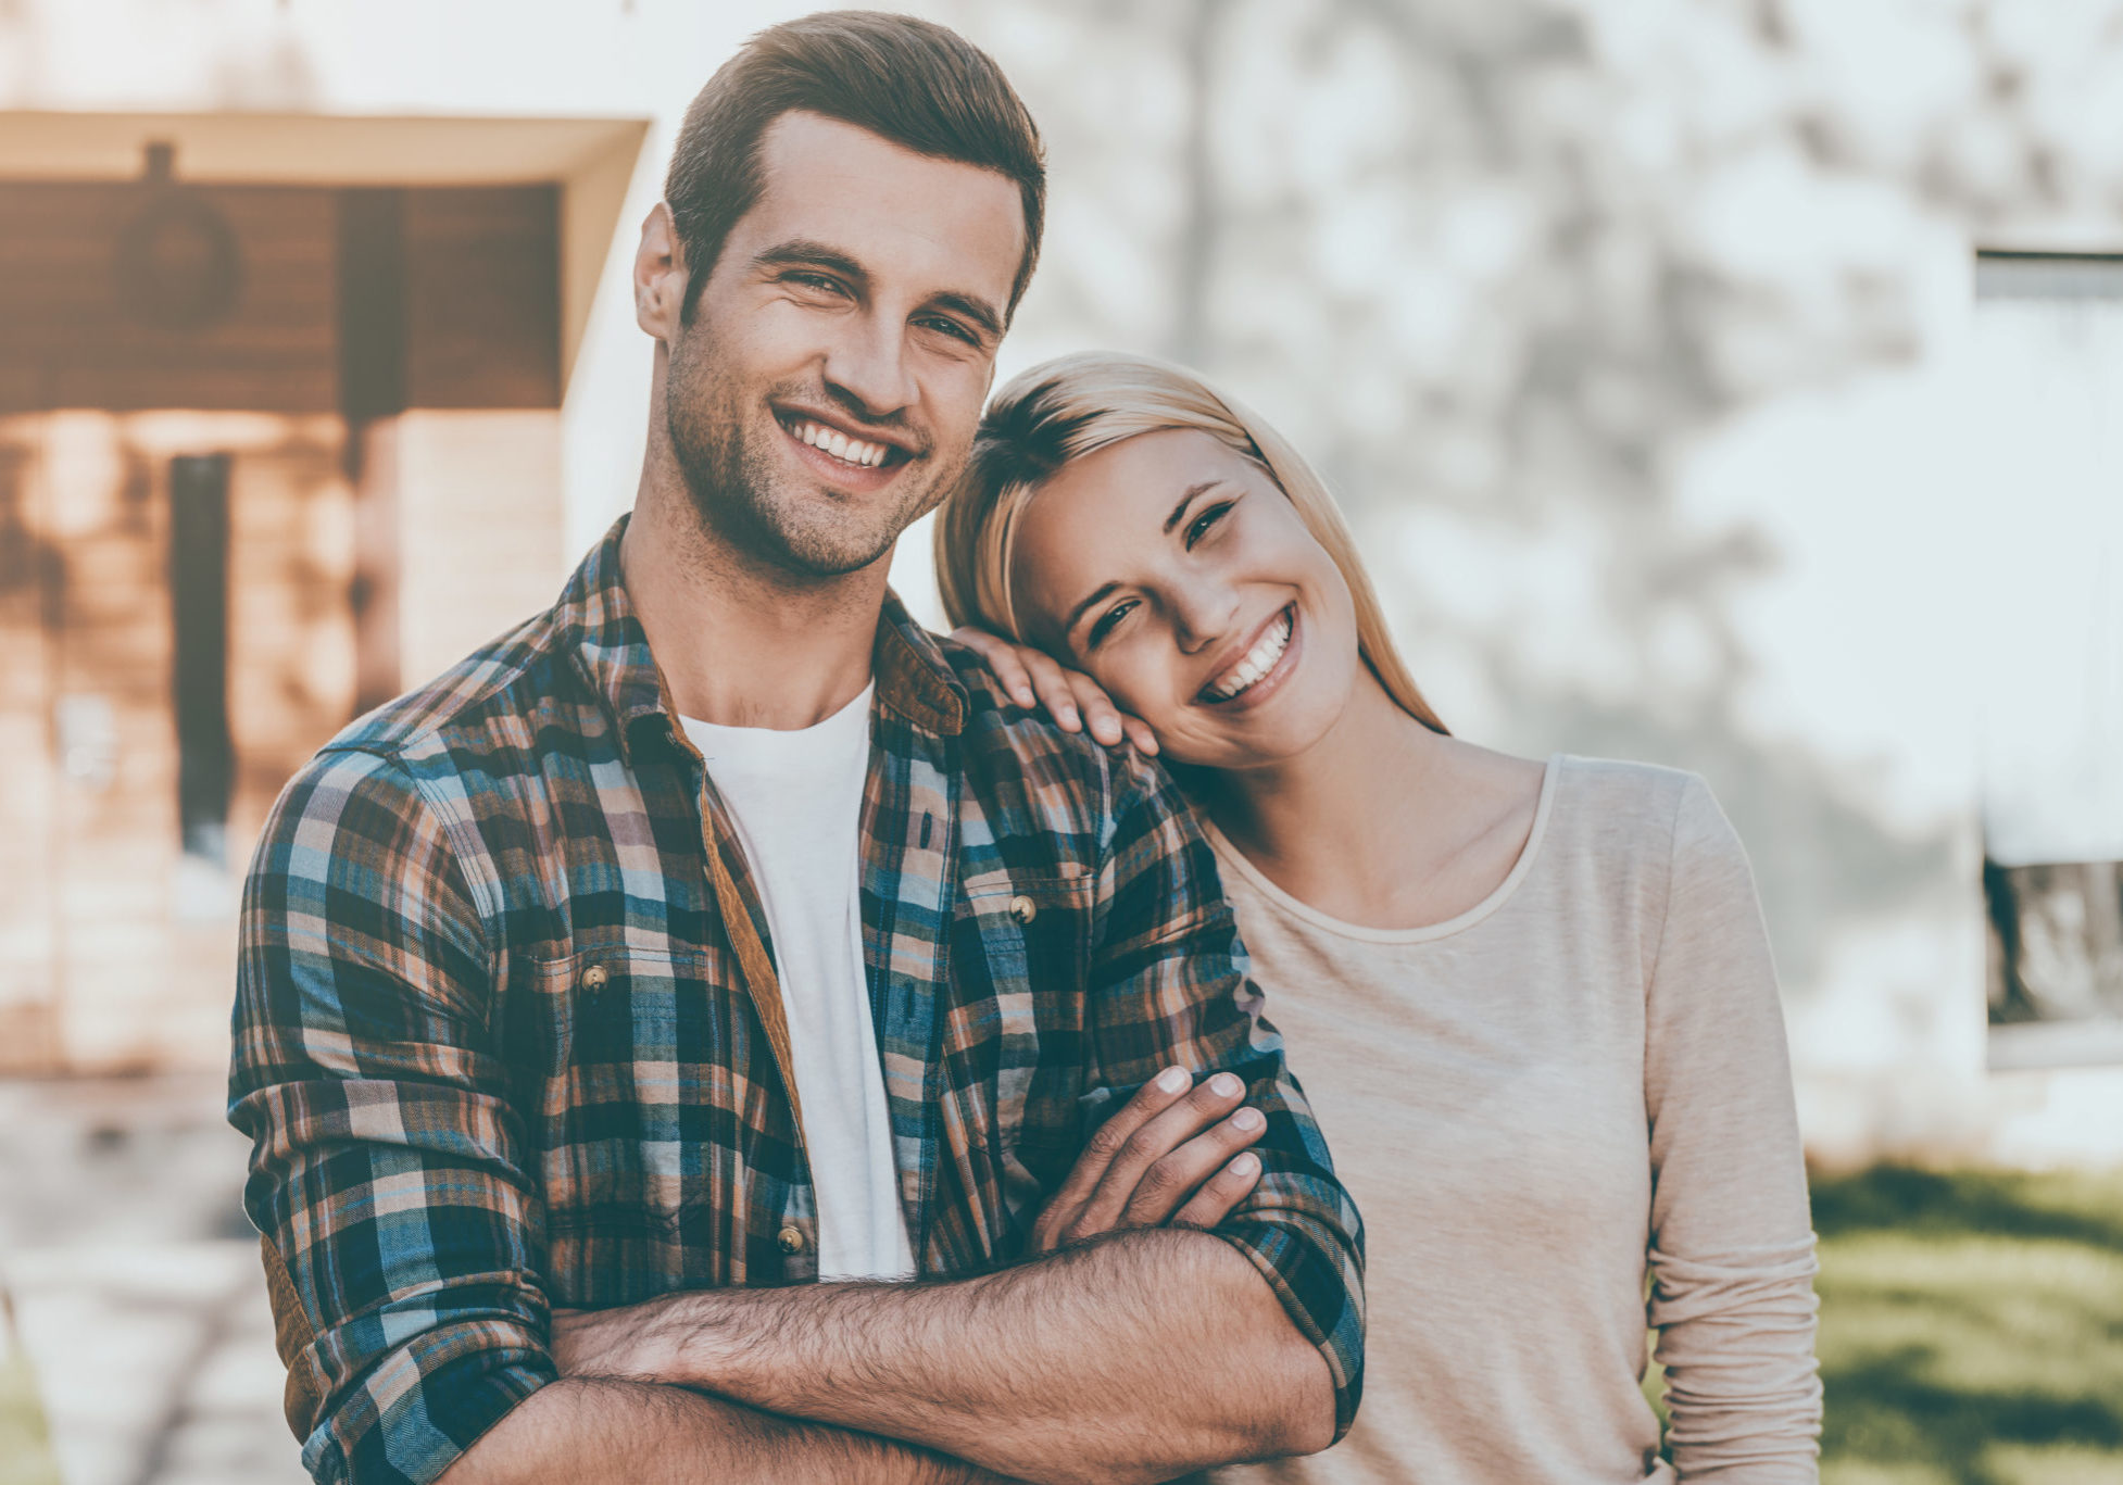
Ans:
[{"label": "smiling dark-haired man in plaid shirt with arms crossed", "polygon": [[[633,518],[282,796],[231,1120],[318,1481],[1149,1481],[1348,1428],[1357,1216],[1206,849],[885,592],[1042,202],[955,34],[754,38],[643,229]],[[1257,1190],[1129,1228],[1240,1097]]]}]

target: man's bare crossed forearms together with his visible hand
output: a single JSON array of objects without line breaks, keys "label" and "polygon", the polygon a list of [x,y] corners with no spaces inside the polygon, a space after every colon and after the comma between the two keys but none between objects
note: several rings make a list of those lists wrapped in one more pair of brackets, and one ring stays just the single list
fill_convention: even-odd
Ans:
[{"label": "man's bare crossed forearms together with his visible hand", "polygon": [[[949,1283],[667,1294],[563,1315],[552,1383],[448,1485],[1161,1481],[1333,1438],[1333,1383],[1259,1271],[1197,1230],[1259,1177],[1221,1076],[1153,1082],[1034,1230]],[[1174,1222],[1166,1230],[1153,1224]]]}]

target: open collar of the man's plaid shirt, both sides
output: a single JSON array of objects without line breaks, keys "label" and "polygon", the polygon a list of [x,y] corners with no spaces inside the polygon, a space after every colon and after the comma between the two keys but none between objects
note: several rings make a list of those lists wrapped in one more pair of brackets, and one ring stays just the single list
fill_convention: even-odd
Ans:
[{"label": "open collar of the man's plaid shirt, both sides", "polygon": [[[567,579],[552,609],[552,622],[582,679],[611,715],[620,755],[633,766],[637,730],[650,728],[658,738],[673,738],[677,709],[650,653],[648,634],[635,617],[620,571],[626,520],[620,516]],[[966,726],[966,687],[936,639],[909,617],[898,594],[885,594],[870,666],[879,704],[915,728],[955,736]]]}]

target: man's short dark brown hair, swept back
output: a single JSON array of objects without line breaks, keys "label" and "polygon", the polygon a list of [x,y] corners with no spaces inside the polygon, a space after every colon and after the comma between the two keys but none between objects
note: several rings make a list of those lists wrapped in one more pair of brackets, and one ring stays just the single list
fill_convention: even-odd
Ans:
[{"label": "man's short dark brown hair, swept back", "polygon": [[760,136],[792,110],[1015,180],[1025,204],[1025,257],[1011,284],[1017,308],[1047,219],[1045,151],[1023,100],[994,57],[945,25],[883,11],[819,11],[747,40],[686,108],[664,176],[686,250],[684,318],[692,318],[730,227],[760,197]]}]

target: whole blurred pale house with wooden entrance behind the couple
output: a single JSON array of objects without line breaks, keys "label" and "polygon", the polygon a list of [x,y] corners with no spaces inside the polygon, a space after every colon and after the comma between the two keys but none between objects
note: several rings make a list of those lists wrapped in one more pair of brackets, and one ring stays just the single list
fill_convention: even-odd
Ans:
[{"label": "whole blurred pale house with wooden entrance behind the couple", "polygon": [[[219,1059],[278,781],[624,509],[635,223],[805,8],[0,4],[0,1061]],[[1051,144],[1002,375],[1204,367],[1454,730],[1701,770],[1817,1154],[2123,1160],[2123,0],[913,8]]]}]

